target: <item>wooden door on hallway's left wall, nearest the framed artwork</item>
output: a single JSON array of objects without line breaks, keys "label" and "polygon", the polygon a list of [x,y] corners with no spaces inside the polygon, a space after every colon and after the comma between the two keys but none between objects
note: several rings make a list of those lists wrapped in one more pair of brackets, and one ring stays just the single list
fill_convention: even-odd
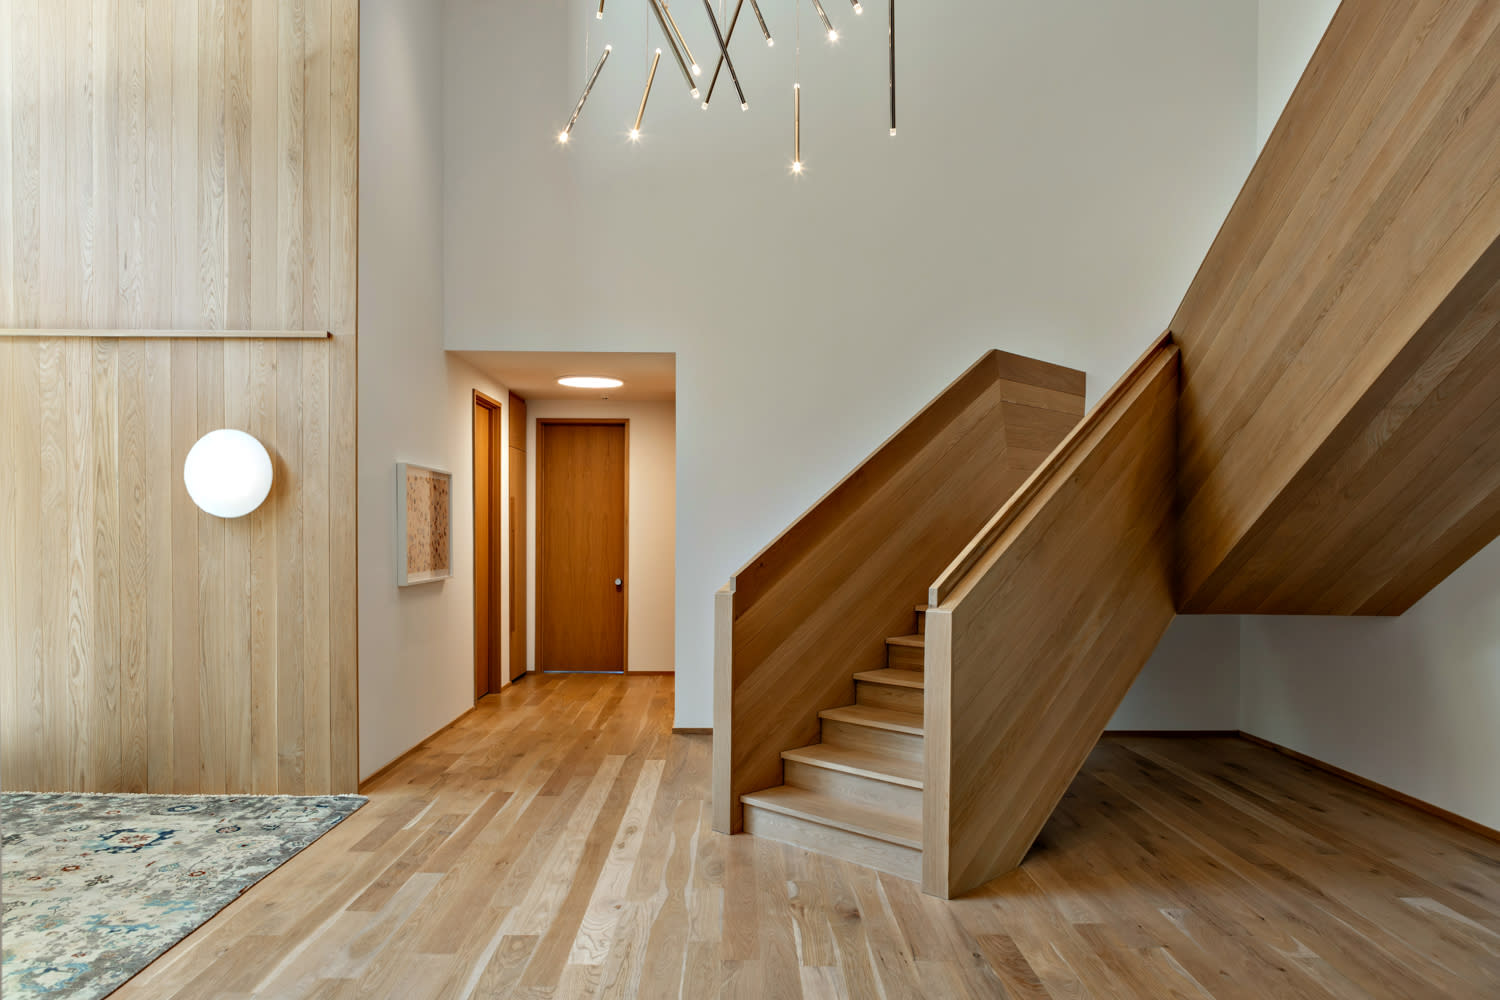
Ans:
[{"label": "wooden door on hallway's left wall, nearest the framed artwork", "polygon": [[474,700],[501,687],[500,403],[474,393]]}]

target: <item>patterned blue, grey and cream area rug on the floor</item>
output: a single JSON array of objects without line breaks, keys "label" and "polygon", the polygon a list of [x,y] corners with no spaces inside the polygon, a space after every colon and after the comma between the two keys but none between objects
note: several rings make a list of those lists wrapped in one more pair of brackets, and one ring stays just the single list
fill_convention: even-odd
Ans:
[{"label": "patterned blue, grey and cream area rug on the floor", "polygon": [[0,795],[0,993],[106,996],[364,802]]}]

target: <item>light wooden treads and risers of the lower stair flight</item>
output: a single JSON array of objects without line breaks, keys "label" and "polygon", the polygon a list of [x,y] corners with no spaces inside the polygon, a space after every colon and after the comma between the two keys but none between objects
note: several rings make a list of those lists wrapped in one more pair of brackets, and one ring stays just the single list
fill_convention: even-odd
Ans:
[{"label": "light wooden treads and risers of the lower stair flight", "polygon": [[854,675],[854,705],[819,712],[822,742],[782,751],[784,784],[741,796],[747,834],[921,879],[924,619]]}]

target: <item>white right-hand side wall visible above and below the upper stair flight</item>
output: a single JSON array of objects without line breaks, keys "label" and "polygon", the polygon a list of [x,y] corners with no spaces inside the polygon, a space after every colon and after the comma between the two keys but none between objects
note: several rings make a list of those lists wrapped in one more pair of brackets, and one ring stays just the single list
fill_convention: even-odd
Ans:
[{"label": "white right-hand side wall visible above and below the upper stair flight", "polygon": [[[1338,4],[1262,1],[1262,121]],[[1500,828],[1500,543],[1401,618],[1246,616],[1240,729]]]}]

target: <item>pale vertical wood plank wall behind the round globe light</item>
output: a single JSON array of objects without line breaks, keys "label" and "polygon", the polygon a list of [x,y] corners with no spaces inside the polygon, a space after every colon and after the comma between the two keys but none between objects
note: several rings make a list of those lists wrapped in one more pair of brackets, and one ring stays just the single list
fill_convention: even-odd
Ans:
[{"label": "pale vertical wood plank wall behind the round globe light", "polygon": [[333,333],[0,339],[0,784],[354,792],[358,0],[0,0],[0,327]]}]

